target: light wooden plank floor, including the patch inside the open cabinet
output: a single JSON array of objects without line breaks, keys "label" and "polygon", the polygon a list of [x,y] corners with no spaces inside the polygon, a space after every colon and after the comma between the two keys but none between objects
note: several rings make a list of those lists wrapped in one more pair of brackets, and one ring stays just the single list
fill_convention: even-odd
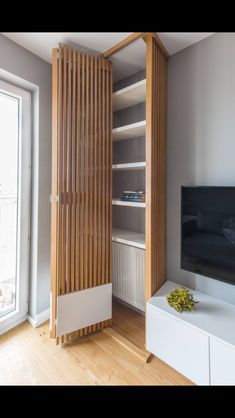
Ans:
[{"label": "light wooden plank floor, including the patch inside the open cabinet", "polygon": [[[144,317],[118,303],[113,328],[140,348]],[[56,346],[49,323],[0,336],[0,385],[191,385],[156,357],[144,363],[104,332]]]}]

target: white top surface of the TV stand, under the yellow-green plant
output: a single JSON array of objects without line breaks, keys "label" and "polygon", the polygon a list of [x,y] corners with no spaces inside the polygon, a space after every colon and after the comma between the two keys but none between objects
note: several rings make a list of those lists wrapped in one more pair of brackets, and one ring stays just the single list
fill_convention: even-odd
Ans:
[{"label": "white top surface of the TV stand, under the yellow-green plant", "polygon": [[235,305],[190,289],[194,299],[199,303],[195,305],[194,311],[179,313],[168,305],[166,295],[171,290],[182,286],[182,284],[167,280],[149,299],[148,306],[235,347]]}]

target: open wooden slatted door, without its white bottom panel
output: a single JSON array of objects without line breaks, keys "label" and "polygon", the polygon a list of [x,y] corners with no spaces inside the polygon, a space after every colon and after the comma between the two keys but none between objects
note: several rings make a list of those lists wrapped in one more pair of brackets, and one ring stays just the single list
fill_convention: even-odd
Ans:
[{"label": "open wooden slatted door, without its white bottom panel", "polygon": [[60,47],[53,50],[52,70],[51,336],[56,337],[57,296],[111,283],[112,67],[103,58]]}]

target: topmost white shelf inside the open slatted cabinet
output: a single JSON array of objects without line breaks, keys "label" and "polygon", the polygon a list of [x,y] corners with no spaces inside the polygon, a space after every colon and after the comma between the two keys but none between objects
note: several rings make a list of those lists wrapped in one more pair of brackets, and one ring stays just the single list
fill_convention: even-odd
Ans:
[{"label": "topmost white shelf inside the open slatted cabinet", "polygon": [[146,100],[146,79],[113,93],[113,111],[135,106]]}]

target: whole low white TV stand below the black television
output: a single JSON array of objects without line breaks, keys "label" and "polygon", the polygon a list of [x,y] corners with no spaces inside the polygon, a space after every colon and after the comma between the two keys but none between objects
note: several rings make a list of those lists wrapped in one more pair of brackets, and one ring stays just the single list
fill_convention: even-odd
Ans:
[{"label": "whole low white TV stand below the black television", "polygon": [[192,290],[192,312],[178,313],[167,281],[147,302],[146,348],[199,385],[235,385],[235,305]]}]

